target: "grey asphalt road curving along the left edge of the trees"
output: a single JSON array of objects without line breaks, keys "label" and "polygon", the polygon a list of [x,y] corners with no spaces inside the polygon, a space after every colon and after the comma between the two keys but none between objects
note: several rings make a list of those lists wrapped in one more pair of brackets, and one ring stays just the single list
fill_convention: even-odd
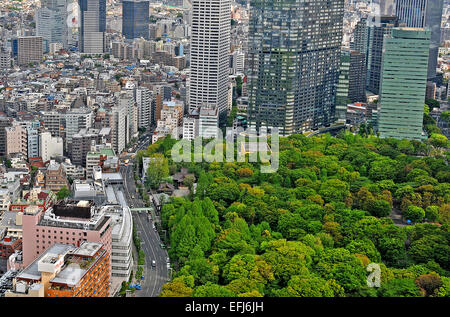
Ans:
[{"label": "grey asphalt road curving along the left edge of the trees", "polygon": [[[139,143],[137,150],[143,149],[148,145]],[[125,198],[130,205],[130,208],[147,207],[136,193],[136,184],[133,177],[133,160],[130,160],[130,165],[121,166],[120,172],[124,179],[124,193]],[[134,198],[132,198],[134,196]],[[141,246],[145,252],[145,266],[144,266],[144,280],[141,281],[141,290],[135,292],[136,297],[156,297],[159,296],[163,284],[168,281],[169,269],[167,268],[167,250],[161,248],[161,240],[158,232],[153,228],[153,220],[149,221],[147,212],[138,213],[132,212],[133,223],[136,225],[136,231],[141,238]],[[152,266],[152,261],[156,262],[156,266]]]}]

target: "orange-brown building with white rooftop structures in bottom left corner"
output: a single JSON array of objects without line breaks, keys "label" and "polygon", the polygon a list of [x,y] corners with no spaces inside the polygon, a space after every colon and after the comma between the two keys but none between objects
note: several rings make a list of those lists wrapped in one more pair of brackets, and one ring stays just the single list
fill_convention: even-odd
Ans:
[{"label": "orange-brown building with white rooftop structures in bottom left corner", "polygon": [[5,297],[108,297],[110,259],[102,243],[55,243],[16,276]]}]

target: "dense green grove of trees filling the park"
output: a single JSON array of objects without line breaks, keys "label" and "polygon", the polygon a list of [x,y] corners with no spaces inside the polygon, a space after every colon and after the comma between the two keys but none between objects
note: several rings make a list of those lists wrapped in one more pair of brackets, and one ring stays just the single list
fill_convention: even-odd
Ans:
[{"label": "dense green grove of trees filling the park", "polygon": [[[161,296],[449,296],[450,167],[430,143],[292,135],[280,167],[174,163],[173,140],[138,157],[187,167],[194,195],[161,211],[174,262]],[[396,211],[410,225],[394,224]],[[369,263],[381,287],[367,285]]]}]

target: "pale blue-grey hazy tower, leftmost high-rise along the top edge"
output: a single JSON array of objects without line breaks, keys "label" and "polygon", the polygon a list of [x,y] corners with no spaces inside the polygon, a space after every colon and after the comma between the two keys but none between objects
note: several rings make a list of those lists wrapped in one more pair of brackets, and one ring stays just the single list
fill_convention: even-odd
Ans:
[{"label": "pale blue-grey hazy tower, leftmost high-rise along the top edge", "polygon": [[36,35],[50,43],[61,43],[67,47],[67,5],[68,0],[41,0],[36,10]]}]

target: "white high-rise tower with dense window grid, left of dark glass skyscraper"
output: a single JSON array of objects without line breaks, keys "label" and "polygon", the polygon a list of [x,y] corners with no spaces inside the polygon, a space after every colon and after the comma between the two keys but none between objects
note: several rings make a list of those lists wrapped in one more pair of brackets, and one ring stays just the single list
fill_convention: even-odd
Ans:
[{"label": "white high-rise tower with dense window grid, left of dark glass skyscraper", "polygon": [[230,0],[192,0],[190,109],[208,105],[227,113]]}]

